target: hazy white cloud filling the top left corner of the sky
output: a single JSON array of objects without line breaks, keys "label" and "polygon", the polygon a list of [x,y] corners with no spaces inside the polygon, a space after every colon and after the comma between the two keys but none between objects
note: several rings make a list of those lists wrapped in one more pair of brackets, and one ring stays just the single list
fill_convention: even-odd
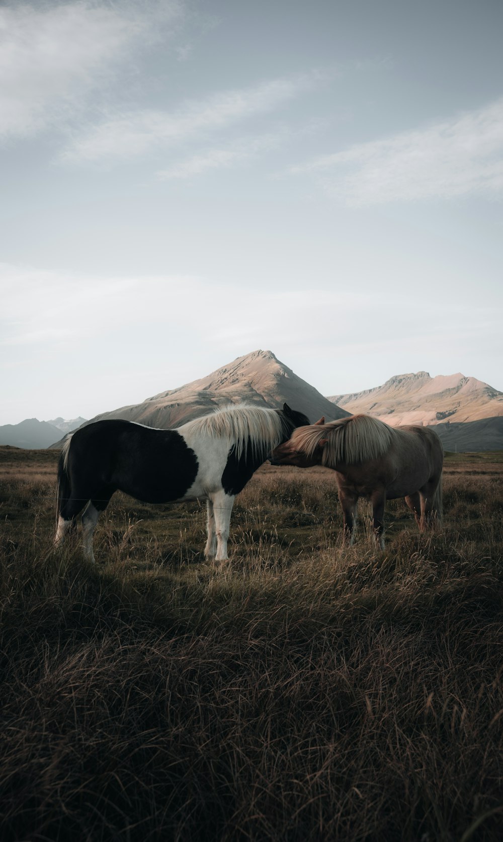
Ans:
[{"label": "hazy white cloud filling the top left corner of the sky", "polygon": [[0,138],[66,124],[103,88],[133,43],[145,46],[177,18],[172,3],[73,0],[0,9]]}]

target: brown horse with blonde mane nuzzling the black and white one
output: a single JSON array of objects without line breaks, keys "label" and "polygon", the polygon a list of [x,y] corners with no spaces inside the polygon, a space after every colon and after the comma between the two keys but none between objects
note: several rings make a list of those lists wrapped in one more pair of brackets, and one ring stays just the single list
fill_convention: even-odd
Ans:
[{"label": "brown horse with blonde mane nuzzling the black and white one", "polygon": [[360,497],[373,507],[373,530],[384,549],[386,499],[405,497],[421,532],[442,521],[443,448],[430,427],[389,427],[371,415],[351,415],[294,429],[273,450],[273,465],[322,465],[336,472],[344,533],[354,540]]}]

